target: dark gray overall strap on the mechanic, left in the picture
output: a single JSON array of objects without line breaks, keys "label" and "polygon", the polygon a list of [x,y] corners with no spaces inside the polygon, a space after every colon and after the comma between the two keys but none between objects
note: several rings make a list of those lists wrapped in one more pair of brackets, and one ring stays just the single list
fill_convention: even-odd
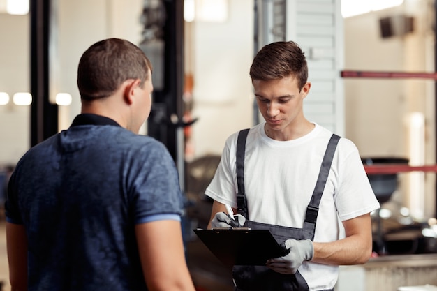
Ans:
[{"label": "dark gray overall strap on the mechanic, left in the picture", "polygon": [[247,210],[247,200],[244,191],[244,152],[246,151],[246,138],[249,133],[249,128],[240,130],[237,139],[237,211],[249,219],[249,211]]}]

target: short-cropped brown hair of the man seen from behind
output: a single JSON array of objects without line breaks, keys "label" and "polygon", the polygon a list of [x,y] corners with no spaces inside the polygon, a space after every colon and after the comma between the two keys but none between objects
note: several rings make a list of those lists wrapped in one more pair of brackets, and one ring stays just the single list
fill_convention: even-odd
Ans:
[{"label": "short-cropped brown hair of the man seen from behind", "polygon": [[105,98],[128,79],[140,79],[143,87],[152,70],[139,47],[119,38],[101,40],[82,54],[77,68],[77,87],[82,100]]}]

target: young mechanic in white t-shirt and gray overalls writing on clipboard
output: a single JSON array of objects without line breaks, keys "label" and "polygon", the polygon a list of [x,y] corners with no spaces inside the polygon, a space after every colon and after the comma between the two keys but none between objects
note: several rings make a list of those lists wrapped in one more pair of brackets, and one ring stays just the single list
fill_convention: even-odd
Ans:
[{"label": "young mechanic in white t-shirt and gray overalls writing on clipboard", "polygon": [[333,290],[338,266],[364,264],[372,250],[370,213],[379,203],[360,154],[304,117],[311,83],[299,45],[266,45],[250,76],[265,121],[228,137],[205,192],[214,199],[208,227],[230,227],[230,205],[239,225],[268,228],[289,250],[265,266],[234,266],[235,290]]}]

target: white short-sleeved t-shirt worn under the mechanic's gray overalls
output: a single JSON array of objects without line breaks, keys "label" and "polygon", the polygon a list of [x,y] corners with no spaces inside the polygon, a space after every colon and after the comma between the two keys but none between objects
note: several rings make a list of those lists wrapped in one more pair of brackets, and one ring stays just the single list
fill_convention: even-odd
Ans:
[{"label": "white short-sleeved t-shirt worn under the mechanic's gray overalls", "polygon": [[[265,122],[249,131],[244,159],[244,187],[249,219],[260,223],[302,228],[332,133],[316,124],[310,133],[295,140],[272,140]],[[237,207],[236,147],[238,133],[226,140],[216,174],[206,195]],[[341,138],[320,201],[314,241],[340,238],[340,221],[379,208],[355,144]],[[338,267],[304,262],[299,273],[310,290],[334,288]]]}]

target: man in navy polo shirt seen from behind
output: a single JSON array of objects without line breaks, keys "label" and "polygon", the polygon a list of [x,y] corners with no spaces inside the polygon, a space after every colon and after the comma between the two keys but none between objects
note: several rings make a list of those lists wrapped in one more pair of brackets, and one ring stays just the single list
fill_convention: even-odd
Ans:
[{"label": "man in navy polo shirt seen from behind", "polygon": [[175,163],[163,144],[138,135],[151,69],[127,40],[82,54],[81,114],[24,154],[10,179],[12,290],[195,290]]}]

